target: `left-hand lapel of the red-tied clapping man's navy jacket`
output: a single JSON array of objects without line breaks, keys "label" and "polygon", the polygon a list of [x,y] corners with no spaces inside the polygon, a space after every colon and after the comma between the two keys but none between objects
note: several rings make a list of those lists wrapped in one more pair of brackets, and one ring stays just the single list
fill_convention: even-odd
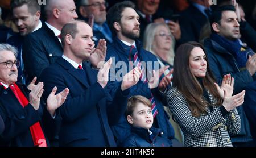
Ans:
[{"label": "left-hand lapel of the red-tied clapping man's navy jacket", "polygon": [[56,62],[59,63],[61,66],[63,66],[63,68],[66,69],[68,71],[68,73],[71,74],[71,76],[75,77],[76,80],[81,82],[81,84],[83,84],[84,86],[89,88],[88,82],[86,82],[84,80],[85,76],[81,76],[81,74],[70,63],[68,63],[67,60],[65,60],[62,57],[60,57]]}]

